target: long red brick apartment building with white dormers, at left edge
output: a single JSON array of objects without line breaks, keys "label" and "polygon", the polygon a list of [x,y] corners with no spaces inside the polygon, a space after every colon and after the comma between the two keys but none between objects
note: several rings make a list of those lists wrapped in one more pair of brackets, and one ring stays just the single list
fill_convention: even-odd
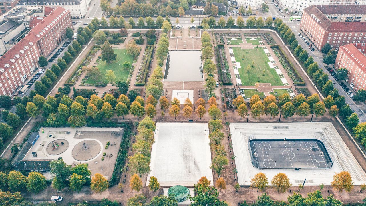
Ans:
[{"label": "long red brick apartment building with white dormers, at left edge", "polygon": [[11,96],[38,67],[39,56],[48,56],[72,28],[70,11],[57,7],[14,47],[0,57],[0,94]]}]

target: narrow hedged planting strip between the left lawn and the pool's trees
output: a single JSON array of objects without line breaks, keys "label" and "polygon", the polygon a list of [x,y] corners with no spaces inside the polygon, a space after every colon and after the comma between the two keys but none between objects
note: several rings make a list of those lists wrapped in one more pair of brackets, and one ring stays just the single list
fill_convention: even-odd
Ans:
[{"label": "narrow hedged planting strip between the left lawn and the pool's trees", "polygon": [[138,73],[137,73],[137,77],[136,77],[136,81],[135,81],[136,86],[145,85],[145,82],[147,79],[147,71],[149,71],[153,50],[154,49],[152,46],[146,46],[145,52],[143,52],[141,64],[138,69]]}]

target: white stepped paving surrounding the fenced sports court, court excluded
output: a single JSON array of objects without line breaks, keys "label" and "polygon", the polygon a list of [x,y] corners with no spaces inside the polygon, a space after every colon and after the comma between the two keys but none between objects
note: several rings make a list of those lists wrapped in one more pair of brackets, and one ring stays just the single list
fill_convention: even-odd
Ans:
[{"label": "white stepped paving surrounding the fenced sports court, court excluded", "polygon": [[[287,174],[292,185],[330,185],[333,175],[340,171],[348,171],[355,185],[366,183],[366,173],[363,171],[351,151],[343,142],[341,136],[331,122],[301,122],[301,123],[230,123],[230,132],[238,181],[240,185],[250,185],[251,178],[258,172],[263,172],[269,182],[279,172]],[[248,147],[249,139],[318,139],[324,143],[333,165],[330,169],[258,169],[251,162]],[[296,149],[296,148],[295,148]],[[299,148],[301,149],[301,148]],[[270,184],[270,183],[269,183]]]}]

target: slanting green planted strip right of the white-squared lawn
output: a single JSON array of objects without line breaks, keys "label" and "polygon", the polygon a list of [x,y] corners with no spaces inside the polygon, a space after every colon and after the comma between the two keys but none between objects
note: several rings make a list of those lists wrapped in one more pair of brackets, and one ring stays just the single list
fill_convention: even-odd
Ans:
[{"label": "slanting green planted strip right of the white-squared lawn", "polygon": [[273,52],[279,59],[282,67],[286,70],[287,75],[291,78],[291,80],[296,85],[305,85],[305,82],[303,78],[300,76],[299,72],[295,69],[294,65],[290,62],[290,60],[287,59],[287,56],[282,51],[281,48],[278,47],[278,45],[271,46]]}]

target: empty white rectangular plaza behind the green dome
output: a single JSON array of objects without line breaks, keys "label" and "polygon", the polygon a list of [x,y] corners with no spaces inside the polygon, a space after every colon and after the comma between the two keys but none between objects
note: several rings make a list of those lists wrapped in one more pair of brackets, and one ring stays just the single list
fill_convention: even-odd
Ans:
[{"label": "empty white rectangular plaza behind the green dome", "polygon": [[[193,186],[206,176],[213,184],[207,123],[156,123],[147,176],[161,186]],[[146,181],[146,185],[149,181]]]}]

